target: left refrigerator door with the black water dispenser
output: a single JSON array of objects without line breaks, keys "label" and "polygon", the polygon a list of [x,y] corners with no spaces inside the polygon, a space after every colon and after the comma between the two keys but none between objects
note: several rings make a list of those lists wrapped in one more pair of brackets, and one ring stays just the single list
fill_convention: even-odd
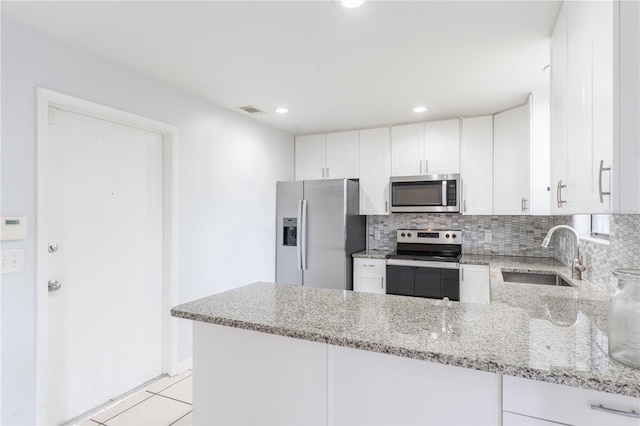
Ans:
[{"label": "left refrigerator door with the black water dispenser", "polygon": [[[302,270],[299,267],[300,218],[298,206],[302,201],[302,181],[278,182],[276,199],[276,282],[281,284],[302,284]],[[293,219],[296,223],[295,238],[292,235]],[[293,245],[295,241],[295,245]]]}]

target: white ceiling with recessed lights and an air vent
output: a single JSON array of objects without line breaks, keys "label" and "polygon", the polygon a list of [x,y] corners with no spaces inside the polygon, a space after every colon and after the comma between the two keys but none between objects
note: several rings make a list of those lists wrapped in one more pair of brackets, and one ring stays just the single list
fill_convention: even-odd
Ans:
[{"label": "white ceiling with recessed lights and an air vent", "polygon": [[[2,15],[306,134],[494,113],[548,84],[560,0],[2,1]],[[430,111],[416,114],[417,105]],[[274,109],[286,106],[289,114]],[[241,114],[247,114],[239,111]]]}]

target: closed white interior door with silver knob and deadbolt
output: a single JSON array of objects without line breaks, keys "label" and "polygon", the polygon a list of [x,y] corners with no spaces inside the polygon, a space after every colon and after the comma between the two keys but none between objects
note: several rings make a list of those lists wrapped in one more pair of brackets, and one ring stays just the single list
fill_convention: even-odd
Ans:
[{"label": "closed white interior door with silver knob and deadbolt", "polygon": [[43,152],[53,424],[162,373],[163,136],[51,108]]}]

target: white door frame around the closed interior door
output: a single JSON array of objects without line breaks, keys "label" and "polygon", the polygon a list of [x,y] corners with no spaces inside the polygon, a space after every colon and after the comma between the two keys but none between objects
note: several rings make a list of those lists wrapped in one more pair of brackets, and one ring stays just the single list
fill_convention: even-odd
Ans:
[{"label": "white door frame around the closed interior door", "polygon": [[65,95],[43,87],[36,94],[36,419],[42,418],[47,399],[47,315],[48,289],[45,276],[47,229],[44,211],[44,182],[47,179],[44,147],[47,143],[49,107],[128,125],[163,135],[163,262],[162,262],[162,373],[175,375],[184,367],[179,363],[178,321],[171,308],[178,304],[178,133],[179,128],[167,123],[121,111],[84,99]]}]

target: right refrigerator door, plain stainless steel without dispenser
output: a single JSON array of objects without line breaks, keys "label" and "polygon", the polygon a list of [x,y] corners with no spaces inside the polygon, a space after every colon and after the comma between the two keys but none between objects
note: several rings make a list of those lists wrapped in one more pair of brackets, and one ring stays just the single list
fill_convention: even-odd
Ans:
[{"label": "right refrigerator door, plain stainless steel without dispenser", "polygon": [[307,201],[306,270],[302,284],[307,287],[350,290],[347,279],[346,180],[331,179],[304,182]]}]

